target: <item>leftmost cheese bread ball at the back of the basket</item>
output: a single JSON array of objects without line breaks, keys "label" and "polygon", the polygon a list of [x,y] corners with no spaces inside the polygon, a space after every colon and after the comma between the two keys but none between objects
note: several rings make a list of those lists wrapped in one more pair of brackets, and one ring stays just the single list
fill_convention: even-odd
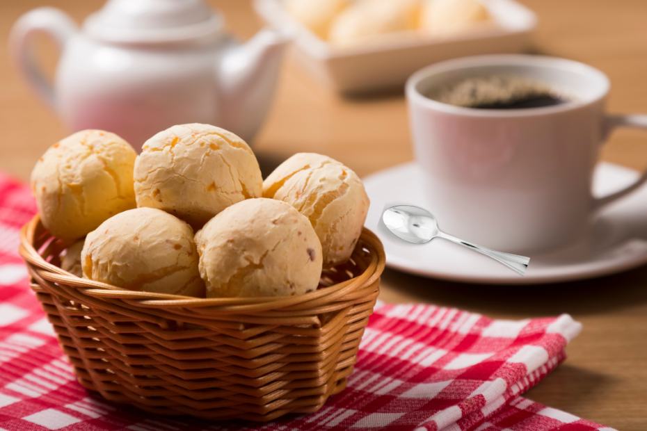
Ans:
[{"label": "leftmost cheese bread ball at the back of the basket", "polygon": [[31,172],[42,224],[56,238],[72,240],[135,208],[136,156],[125,140],[101,130],[79,131],[52,145]]}]

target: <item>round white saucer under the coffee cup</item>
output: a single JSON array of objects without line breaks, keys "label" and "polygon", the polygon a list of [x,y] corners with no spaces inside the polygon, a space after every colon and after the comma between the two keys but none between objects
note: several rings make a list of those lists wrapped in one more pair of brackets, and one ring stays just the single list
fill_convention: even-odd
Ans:
[{"label": "round white saucer under the coffee cup", "polygon": [[[602,210],[589,231],[568,246],[530,255],[526,275],[521,277],[482,254],[441,238],[413,245],[401,241],[383,225],[378,227],[385,205],[392,202],[410,202],[433,213],[420,186],[421,176],[420,168],[412,162],[363,179],[371,199],[365,226],[382,240],[386,263],[391,268],[457,282],[539,284],[599,277],[647,263],[647,186]],[[594,194],[608,195],[638,177],[635,170],[600,163],[593,178]],[[442,220],[438,220],[438,225],[442,229]]]}]

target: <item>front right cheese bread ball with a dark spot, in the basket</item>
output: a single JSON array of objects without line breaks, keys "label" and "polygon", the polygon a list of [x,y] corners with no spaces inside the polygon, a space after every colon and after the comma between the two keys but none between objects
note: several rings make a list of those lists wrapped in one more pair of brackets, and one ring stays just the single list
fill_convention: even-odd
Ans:
[{"label": "front right cheese bread ball with a dark spot, in the basket", "polygon": [[321,277],[321,243],[289,204],[250,199],[195,234],[207,298],[302,295]]}]

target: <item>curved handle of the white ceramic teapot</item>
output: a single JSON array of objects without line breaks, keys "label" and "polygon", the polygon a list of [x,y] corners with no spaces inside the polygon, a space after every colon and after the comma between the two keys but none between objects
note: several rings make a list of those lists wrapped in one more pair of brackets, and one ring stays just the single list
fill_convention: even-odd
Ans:
[{"label": "curved handle of the white ceramic teapot", "polygon": [[47,7],[30,10],[22,15],[11,29],[10,55],[27,83],[54,111],[56,111],[54,86],[35,61],[33,37],[38,33],[49,35],[58,45],[59,53],[62,53],[67,41],[77,31],[77,24],[63,10]]}]

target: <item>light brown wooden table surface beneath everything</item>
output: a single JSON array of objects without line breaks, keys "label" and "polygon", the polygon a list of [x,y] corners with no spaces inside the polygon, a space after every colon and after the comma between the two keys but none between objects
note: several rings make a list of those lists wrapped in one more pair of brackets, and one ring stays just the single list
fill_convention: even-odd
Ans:
[{"label": "light brown wooden table surface beneath everything", "polygon": [[[598,67],[612,81],[609,111],[647,113],[647,1],[521,0],[539,17],[535,50]],[[6,62],[11,24],[26,10],[58,6],[81,21],[102,0],[2,0],[0,3],[0,170],[27,180],[37,158],[67,131],[33,97]],[[212,1],[230,29],[248,38],[258,28],[248,1]],[[53,70],[53,45],[42,42]],[[401,93],[343,99],[319,88],[289,63],[253,149],[264,174],[295,152],[319,152],[360,176],[413,158]],[[602,158],[647,168],[647,136],[618,131]],[[385,270],[381,298],[427,302],[495,318],[570,313],[584,331],[568,359],[528,398],[618,430],[647,428],[647,267],[582,282],[477,286]]]}]

